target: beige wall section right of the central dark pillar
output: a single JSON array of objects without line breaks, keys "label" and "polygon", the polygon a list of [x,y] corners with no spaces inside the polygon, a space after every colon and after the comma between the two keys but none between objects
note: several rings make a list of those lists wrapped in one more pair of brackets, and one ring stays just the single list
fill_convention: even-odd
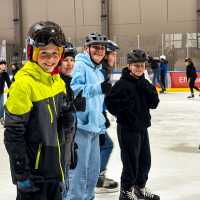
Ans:
[{"label": "beige wall section right of the central dark pillar", "polygon": [[124,49],[137,34],[161,41],[161,33],[197,31],[197,0],[111,0],[110,7],[111,37]]}]

